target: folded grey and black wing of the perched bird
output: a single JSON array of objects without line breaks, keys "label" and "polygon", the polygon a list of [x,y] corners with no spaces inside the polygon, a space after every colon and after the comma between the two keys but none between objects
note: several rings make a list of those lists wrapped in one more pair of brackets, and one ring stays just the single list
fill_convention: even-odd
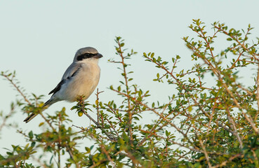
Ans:
[{"label": "folded grey and black wing of the perched bird", "polygon": [[77,72],[81,69],[81,64],[74,64],[72,63],[67,70],[65,71],[64,75],[62,76],[62,79],[60,81],[60,83],[58,83],[58,85],[51,90],[51,92],[49,92],[48,94],[55,94],[56,92],[58,92],[58,90],[60,90],[61,86],[67,81],[73,78],[73,76],[75,76],[77,74]]}]

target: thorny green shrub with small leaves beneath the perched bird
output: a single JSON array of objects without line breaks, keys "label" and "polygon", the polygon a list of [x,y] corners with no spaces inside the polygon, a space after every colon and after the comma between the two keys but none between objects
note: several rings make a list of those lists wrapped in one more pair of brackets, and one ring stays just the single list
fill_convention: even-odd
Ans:
[{"label": "thorny green shrub with small leaves beneath the perched bird", "polygon": [[[175,88],[168,90],[168,102],[161,102],[159,97],[157,103],[146,101],[152,95],[133,83],[133,72],[128,71],[127,60],[137,53],[127,52],[124,40],[117,37],[117,58],[109,62],[118,64],[121,80],[109,89],[123,101],[102,102],[99,91],[95,104],[79,97],[72,109],[90,118],[93,125],[73,125],[77,131],[70,127],[73,122],[65,108],[53,116],[40,113],[42,96],[33,94],[28,99],[13,80],[15,73],[2,72],[1,76],[22,95],[13,108],[20,106],[25,113],[39,111],[44,118],[39,127],[45,125],[46,129],[40,134],[20,130],[28,144],[12,146],[1,154],[1,167],[34,167],[29,158],[43,167],[61,167],[60,158],[65,154],[69,155],[62,163],[66,167],[259,167],[259,41],[248,41],[253,29],[250,25],[240,31],[214,22],[212,28],[213,33],[208,35],[204,23],[193,20],[190,29],[197,36],[182,38],[192,51],[194,65],[190,69],[179,69],[179,55],[168,62],[153,52],[143,53],[145,61],[160,69],[154,82]],[[214,43],[218,36],[228,42],[219,53]],[[244,83],[240,74],[253,77],[254,82]],[[91,110],[96,118],[88,114]],[[157,117],[143,125],[140,120],[145,113]],[[12,111],[1,115],[4,122],[0,130],[11,115]],[[79,140],[84,137],[93,140],[94,146],[81,146]],[[51,153],[49,163],[35,158],[39,149],[41,155]],[[53,158],[58,161],[51,162]]]}]

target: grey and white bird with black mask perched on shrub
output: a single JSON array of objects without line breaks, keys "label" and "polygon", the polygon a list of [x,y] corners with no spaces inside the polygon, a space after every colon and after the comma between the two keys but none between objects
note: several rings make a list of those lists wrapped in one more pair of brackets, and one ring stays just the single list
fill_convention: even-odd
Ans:
[{"label": "grey and white bird with black mask perched on shrub", "polygon": [[[76,102],[79,96],[84,96],[83,100],[93,93],[100,79],[99,59],[102,55],[92,47],[80,48],[74,55],[74,60],[68,66],[60,83],[49,92],[51,98],[42,106],[44,111],[52,104],[65,100]],[[39,113],[33,112],[24,122],[28,123]]]}]

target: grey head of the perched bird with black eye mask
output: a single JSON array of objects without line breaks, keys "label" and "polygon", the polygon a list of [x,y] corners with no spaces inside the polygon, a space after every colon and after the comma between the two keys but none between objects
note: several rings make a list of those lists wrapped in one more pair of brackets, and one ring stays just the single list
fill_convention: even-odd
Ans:
[{"label": "grey head of the perched bird with black eye mask", "polygon": [[79,61],[87,60],[87,59],[88,60],[90,60],[90,59],[98,60],[101,57],[102,57],[102,55],[100,53],[98,53],[98,50],[96,50],[95,48],[91,48],[91,47],[80,48],[79,50],[77,50],[77,53],[74,56],[74,62],[79,62]]}]

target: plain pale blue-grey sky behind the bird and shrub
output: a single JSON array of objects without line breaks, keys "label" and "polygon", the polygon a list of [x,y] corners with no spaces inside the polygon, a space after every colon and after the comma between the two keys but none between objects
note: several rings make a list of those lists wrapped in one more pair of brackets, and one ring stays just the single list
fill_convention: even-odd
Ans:
[{"label": "plain pale blue-grey sky behind the bird and shrub", "polygon": [[[192,19],[200,18],[211,28],[215,21],[225,22],[228,27],[246,29],[250,23],[259,36],[259,1],[0,1],[0,71],[15,70],[20,85],[27,93],[44,94],[60,82],[74,53],[82,47],[92,46],[104,57],[100,59],[101,78],[98,88],[105,92],[102,101],[117,97],[109,91],[109,85],[119,85],[120,73],[115,64],[107,62],[114,55],[114,38],[125,39],[126,48],[133,48],[138,55],[131,59],[134,83],[143,90],[152,90],[150,100],[166,100],[171,87],[153,83],[156,69],[144,62],[142,52],[155,52],[163,59],[180,55],[178,66],[192,66],[190,51],[182,41],[183,36],[195,34],[187,28]],[[219,48],[223,46],[219,43]],[[0,78],[0,111],[8,113],[17,92],[6,80]],[[169,91],[168,91],[169,90]],[[90,102],[95,101],[92,95]],[[89,120],[79,118],[69,111],[73,104],[59,102],[45,113],[67,108],[69,116],[79,126],[87,127]],[[23,123],[25,114],[17,111],[16,123],[23,130],[34,130],[43,121],[36,117]],[[147,116],[148,118],[148,116]],[[10,120],[10,121],[11,121]],[[151,120],[151,119],[150,119]],[[25,145],[15,130],[1,132],[0,153],[11,144]]]}]

